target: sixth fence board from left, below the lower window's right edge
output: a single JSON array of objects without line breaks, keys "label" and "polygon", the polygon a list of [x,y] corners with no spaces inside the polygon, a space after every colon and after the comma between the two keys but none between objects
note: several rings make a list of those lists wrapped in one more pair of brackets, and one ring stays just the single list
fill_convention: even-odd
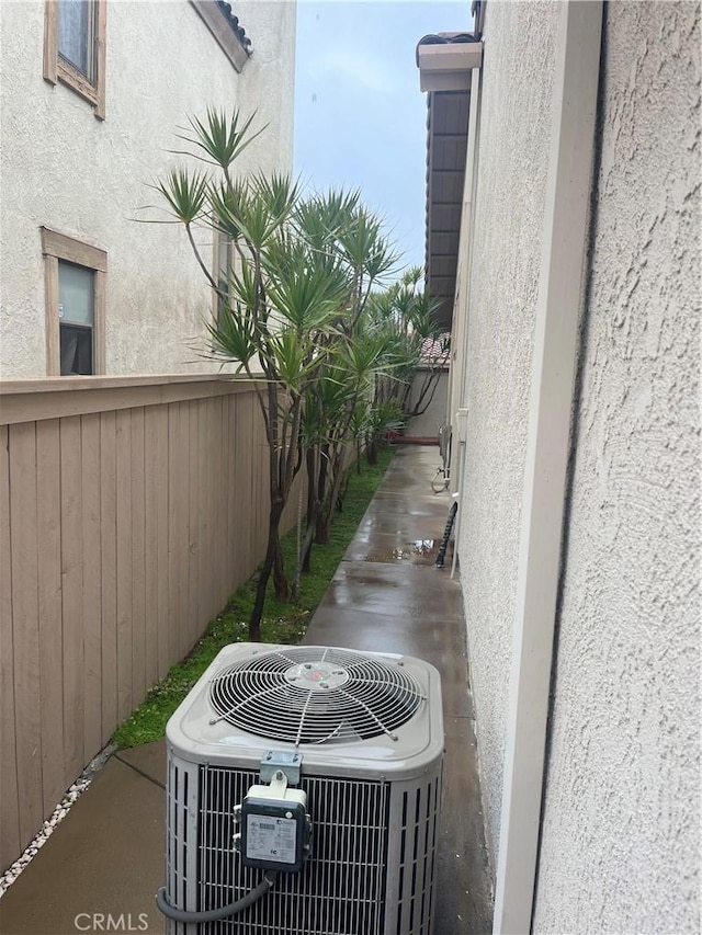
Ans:
[{"label": "sixth fence board from left, below the lower window's right edge", "polygon": [[102,742],[117,723],[117,454],[116,415],[100,414],[100,555]]}]

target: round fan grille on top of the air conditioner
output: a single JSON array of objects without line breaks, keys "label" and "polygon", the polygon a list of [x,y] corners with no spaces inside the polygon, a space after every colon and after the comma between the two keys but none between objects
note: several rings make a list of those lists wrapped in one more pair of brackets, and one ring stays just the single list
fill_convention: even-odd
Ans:
[{"label": "round fan grille on top of the air conditioner", "polygon": [[249,733],[301,743],[395,738],[424,697],[401,663],[333,647],[288,647],[218,672],[210,702]]}]

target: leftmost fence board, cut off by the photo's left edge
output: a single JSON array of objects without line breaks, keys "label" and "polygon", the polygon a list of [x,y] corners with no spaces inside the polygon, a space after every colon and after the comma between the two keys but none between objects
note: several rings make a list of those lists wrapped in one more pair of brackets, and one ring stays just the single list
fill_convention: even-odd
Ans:
[{"label": "leftmost fence board, cut off by the photo's left edge", "polygon": [[10,554],[10,463],[8,426],[0,426],[0,866],[22,850],[14,746],[14,652],[12,639],[12,556]]}]

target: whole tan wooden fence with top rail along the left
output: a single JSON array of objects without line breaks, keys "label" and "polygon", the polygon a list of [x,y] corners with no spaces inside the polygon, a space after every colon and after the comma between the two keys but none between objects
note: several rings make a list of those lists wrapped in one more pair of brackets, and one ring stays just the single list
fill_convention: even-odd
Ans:
[{"label": "whole tan wooden fence with top rail along the left", "polygon": [[269,500],[250,384],[89,377],[0,389],[4,868],[254,570]]}]

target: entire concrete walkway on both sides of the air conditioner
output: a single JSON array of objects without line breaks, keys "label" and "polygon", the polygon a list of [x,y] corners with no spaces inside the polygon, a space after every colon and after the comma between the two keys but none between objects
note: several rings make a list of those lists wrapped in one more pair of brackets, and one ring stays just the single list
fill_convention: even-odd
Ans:
[{"label": "entire concrete walkway on both sides of the air conditioner", "polygon": [[[451,504],[431,492],[438,464],[435,447],[398,449],[305,642],[403,652],[440,670],[446,759],[434,935],[482,935],[491,928],[489,878],[461,589],[450,554],[444,570],[434,568]],[[111,757],[0,900],[3,935],[165,931],[154,904],[165,765],[162,741]]]}]

